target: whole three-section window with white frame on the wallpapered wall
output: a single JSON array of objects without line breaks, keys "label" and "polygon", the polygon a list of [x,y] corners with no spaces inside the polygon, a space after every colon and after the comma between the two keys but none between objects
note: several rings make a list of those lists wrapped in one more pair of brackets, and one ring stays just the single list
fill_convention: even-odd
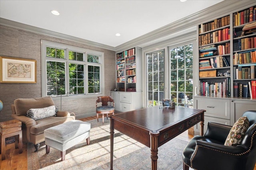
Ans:
[{"label": "whole three-section window with white frame on the wallpapered wall", "polygon": [[43,96],[98,96],[104,92],[104,53],[42,41]]}]

